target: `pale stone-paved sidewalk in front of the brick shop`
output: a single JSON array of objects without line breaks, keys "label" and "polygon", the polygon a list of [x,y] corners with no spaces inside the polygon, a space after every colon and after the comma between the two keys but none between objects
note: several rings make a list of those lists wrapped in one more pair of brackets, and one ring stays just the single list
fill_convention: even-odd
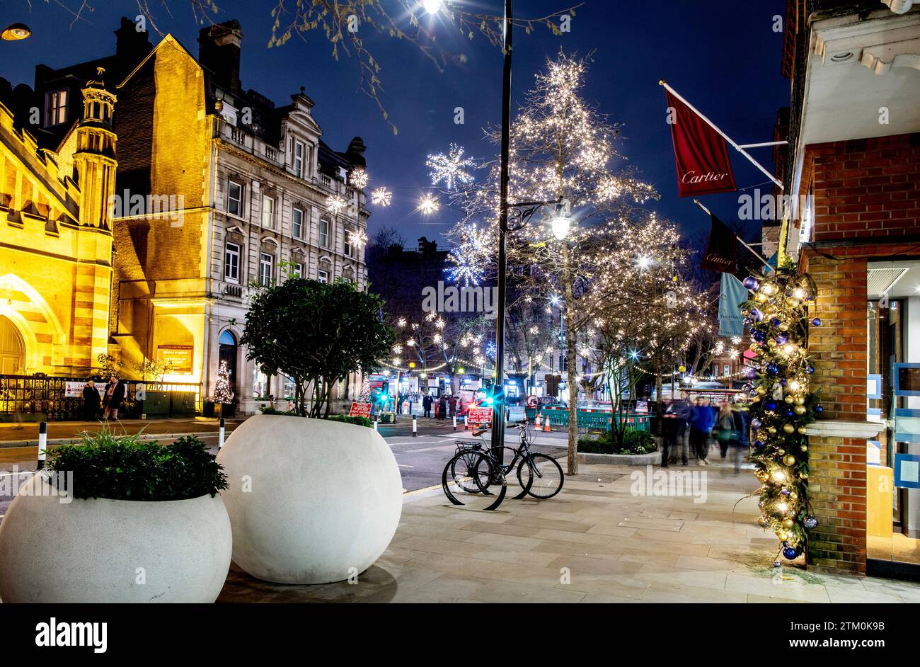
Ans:
[{"label": "pale stone-paved sidewalk in front of the brick shop", "polygon": [[705,501],[633,495],[631,476],[646,468],[629,466],[582,465],[556,498],[509,492],[497,512],[445,506],[440,489],[410,493],[397,535],[357,584],[271,584],[233,565],[218,602],[920,602],[920,584],[774,569],[776,538],[745,498],[750,470],[670,470],[696,474],[685,486]]}]

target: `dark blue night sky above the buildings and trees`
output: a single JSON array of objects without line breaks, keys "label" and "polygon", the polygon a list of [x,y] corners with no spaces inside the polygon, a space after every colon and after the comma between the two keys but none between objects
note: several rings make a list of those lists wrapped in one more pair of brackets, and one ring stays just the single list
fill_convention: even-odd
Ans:
[{"label": "dark blue night sky above the buildings and trees", "polygon": [[[78,6],[79,0],[61,0]],[[456,219],[446,209],[434,217],[422,217],[414,208],[420,189],[430,185],[426,155],[446,152],[452,142],[466,148],[467,155],[491,158],[494,147],[485,141],[482,128],[500,121],[501,53],[478,35],[472,41],[443,24],[443,43],[450,52],[465,53],[463,67],[449,65],[442,73],[419,50],[385,35],[364,39],[381,63],[385,91],[382,99],[392,127],[383,120],[374,100],[358,89],[355,60],[332,59],[321,33],[307,42],[294,36],[282,47],[268,49],[272,0],[216,0],[221,14],[215,21],[236,18],[243,27],[241,78],[244,88],[254,88],[276,104],[305,86],[314,99],[314,114],[323,128],[324,140],[344,150],[352,136],[367,144],[365,157],[370,187],[385,185],[393,191],[388,208],[372,207],[370,234],[381,225],[396,226],[408,246],[419,236],[441,237]],[[112,31],[121,16],[137,14],[135,0],[90,0],[94,11],[77,21],[61,6],[32,0],[3,0],[0,27],[27,23],[29,40],[0,42],[0,76],[14,85],[34,83],[34,66],[52,67],[109,55],[115,49]],[[171,32],[198,53],[198,29],[183,0],[172,0],[173,16],[150,2],[160,29]],[[383,0],[398,9],[397,3]],[[464,3],[467,6],[474,3]],[[544,16],[573,6],[566,0],[518,0],[515,14]],[[514,98],[533,83],[537,69],[560,47],[567,52],[594,52],[585,89],[587,97],[607,114],[609,121],[625,124],[625,140],[619,150],[640,170],[642,178],[661,192],[661,201],[650,208],[681,224],[690,236],[700,236],[707,217],[692,199],[677,196],[674,158],[669,126],[665,122],[665,99],[658,81],[664,78],[739,144],[772,141],[776,109],[788,106],[788,80],[780,75],[782,33],[773,30],[773,17],[785,15],[785,0],[587,0],[571,19],[571,31],[554,36],[548,29],[531,34],[517,30],[514,36]],[[478,0],[477,11],[500,14],[500,0]],[[443,20],[428,18],[428,20]],[[158,35],[151,31],[156,43]],[[110,83],[110,82],[109,82]],[[516,103],[516,102],[515,102]],[[454,124],[454,108],[463,107],[464,125]],[[770,148],[753,149],[772,170]],[[763,183],[766,178],[742,155],[730,150],[739,188]],[[482,178],[485,170],[477,172]],[[769,190],[764,185],[763,190]],[[723,219],[737,215],[737,194],[705,198],[707,206]],[[444,199],[443,199],[444,201]],[[759,222],[748,224],[757,225]]]}]

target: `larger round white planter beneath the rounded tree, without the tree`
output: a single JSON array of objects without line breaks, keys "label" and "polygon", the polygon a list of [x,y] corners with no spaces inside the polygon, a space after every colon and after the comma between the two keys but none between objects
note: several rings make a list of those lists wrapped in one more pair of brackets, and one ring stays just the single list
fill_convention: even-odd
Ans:
[{"label": "larger round white planter beneath the rounded tree, without the tree", "polygon": [[402,513],[402,478],[379,433],[257,415],[217,455],[230,488],[233,559],[278,583],[342,581],[384,553]]}]

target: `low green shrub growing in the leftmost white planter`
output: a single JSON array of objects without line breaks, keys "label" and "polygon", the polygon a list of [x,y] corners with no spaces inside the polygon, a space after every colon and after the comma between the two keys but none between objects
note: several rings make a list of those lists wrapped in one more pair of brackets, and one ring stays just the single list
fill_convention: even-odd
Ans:
[{"label": "low green shrub growing in the leftmost white planter", "polygon": [[[227,488],[223,466],[193,435],[162,446],[111,431],[81,434],[82,444],[48,452],[48,468],[73,473],[75,498],[187,500]],[[52,479],[64,478],[54,475]]]}]

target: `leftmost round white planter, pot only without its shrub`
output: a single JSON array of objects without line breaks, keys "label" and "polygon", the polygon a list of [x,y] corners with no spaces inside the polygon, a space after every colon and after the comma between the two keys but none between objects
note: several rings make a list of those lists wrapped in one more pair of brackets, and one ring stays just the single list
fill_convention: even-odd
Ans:
[{"label": "leftmost round white planter, pot only without its shrub", "polygon": [[[79,482],[76,482],[79,483]],[[221,497],[64,499],[32,477],[0,523],[4,603],[213,603],[233,540]]]}]

